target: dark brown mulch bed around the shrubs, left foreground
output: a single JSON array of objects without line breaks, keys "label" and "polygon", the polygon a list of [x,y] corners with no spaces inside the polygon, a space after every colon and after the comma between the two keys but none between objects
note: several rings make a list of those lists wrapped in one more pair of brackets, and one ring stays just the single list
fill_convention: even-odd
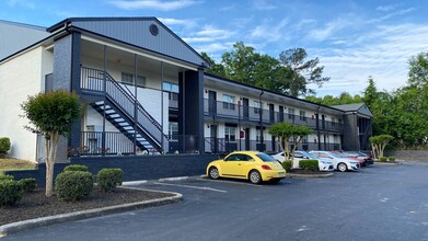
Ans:
[{"label": "dark brown mulch bed around the shrubs, left foreground", "polygon": [[46,197],[45,190],[37,188],[34,192],[24,193],[22,200],[16,206],[0,208],[0,226],[27,219],[170,196],[173,195],[128,188],[116,188],[113,193],[103,193],[94,187],[93,193],[85,199],[65,202],[56,196]]}]

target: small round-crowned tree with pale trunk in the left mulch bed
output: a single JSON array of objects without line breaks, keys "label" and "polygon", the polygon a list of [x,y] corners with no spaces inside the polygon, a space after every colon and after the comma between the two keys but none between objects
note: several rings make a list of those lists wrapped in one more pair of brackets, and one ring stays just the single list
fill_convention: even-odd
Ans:
[{"label": "small round-crowned tree with pale trunk in the left mulch bed", "polygon": [[39,93],[21,104],[22,117],[30,120],[25,129],[45,136],[46,152],[46,196],[51,196],[54,165],[60,136],[68,136],[71,125],[79,118],[81,106],[79,96],[67,90]]}]

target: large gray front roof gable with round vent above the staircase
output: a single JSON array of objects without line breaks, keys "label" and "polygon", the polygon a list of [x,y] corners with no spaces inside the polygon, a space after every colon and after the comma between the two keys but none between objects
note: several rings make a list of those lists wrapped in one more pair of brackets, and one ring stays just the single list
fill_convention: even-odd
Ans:
[{"label": "large gray front roof gable with round vent above the staircase", "polygon": [[207,60],[155,18],[72,18],[48,31],[54,32],[65,24],[200,67],[209,67]]}]

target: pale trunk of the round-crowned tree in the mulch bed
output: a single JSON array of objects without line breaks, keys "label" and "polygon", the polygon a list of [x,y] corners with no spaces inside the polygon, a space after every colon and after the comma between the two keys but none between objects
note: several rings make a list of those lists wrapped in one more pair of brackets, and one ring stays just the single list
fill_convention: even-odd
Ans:
[{"label": "pale trunk of the round-crowned tree in the mulch bed", "polygon": [[49,134],[50,140],[46,141],[48,149],[47,158],[46,158],[46,190],[45,195],[50,197],[54,195],[54,167],[55,167],[55,158],[57,153],[57,146],[59,135],[57,133]]}]

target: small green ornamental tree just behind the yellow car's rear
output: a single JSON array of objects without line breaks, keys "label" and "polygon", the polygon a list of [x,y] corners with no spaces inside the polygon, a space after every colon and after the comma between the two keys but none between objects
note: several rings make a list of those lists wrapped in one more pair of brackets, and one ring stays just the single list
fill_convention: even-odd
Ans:
[{"label": "small green ornamental tree just behind the yellow car's rear", "polygon": [[[296,126],[291,123],[277,123],[270,126],[268,133],[276,137],[286,160],[291,160],[291,167],[293,167],[292,159],[298,145],[302,141],[303,137],[310,135],[312,130],[308,126]],[[293,145],[291,150],[290,140]],[[285,144],[285,146],[282,146],[282,144]]]}]

